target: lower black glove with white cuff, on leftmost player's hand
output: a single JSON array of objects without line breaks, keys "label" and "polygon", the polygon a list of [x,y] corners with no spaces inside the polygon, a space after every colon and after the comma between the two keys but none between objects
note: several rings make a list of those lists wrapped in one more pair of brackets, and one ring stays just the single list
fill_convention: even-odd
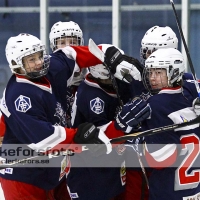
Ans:
[{"label": "lower black glove with white cuff, on leftmost player's hand", "polygon": [[86,145],[94,155],[96,154],[95,156],[104,153],[109,154],[112,151],[109,138],[101,129],[88,122],[78,126],[74,142]]}]

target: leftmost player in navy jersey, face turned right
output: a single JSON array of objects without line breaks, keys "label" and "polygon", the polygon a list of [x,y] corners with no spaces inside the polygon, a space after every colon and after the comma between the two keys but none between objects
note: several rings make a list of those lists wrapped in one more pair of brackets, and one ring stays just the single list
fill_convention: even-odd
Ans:
[{"label": "leftmost player in navy jersey, face turned right", "polygon": [[[108,147],[107,153],[111,151],[108,138],[92,124],[80,125],[77,134],[76,129],[65,128],[65,112],[59,96],[56,95],[54,80],[47,73],[49,56],[45,54],[45,47],[38,38],[29,34],[11,37],[7,42],[6,57],[13,75],[1,101],[1,111],[6,124],[2,157],[8,156],[4,153],[8,148],[16,150],[14,144],[18,144],[17,147],[23,150],[35,153],[40,151],[45,153],[48,150],[50,153],[53,150],[69,148],[73,140],[82,144],[105,143],[106,149]],[[78,55],[77,59],[81,60]],[[91,58],[90,62],[92,60],[97,61]],[[67,57],[65,61],[69,63],[71,67],[69,70],[73,74],[78,65]],[[88,137],[83,137],[82,131],[90,134]],[[115,132],[116,137],[121,135],[122,132]],[[17,156],[16,159],[24,158],[24,151],[20,152],[19,155],[14,154]],[[9,158],[13,159],[13,154]],[[69,160],[63,156],[52,160],[53,164],[60,163],[60,167],[56,165],[56,167],[38,168],[37,165],[33,165],[33,167],[9,168],[1,171],[1,186],[5,198],[7,200],[63,199],[65,189],[60,191],[58,197],[55,196],[54,190],[57,190],[56,187],[61,183],[65,185],[62,181],[69,170]]]}]

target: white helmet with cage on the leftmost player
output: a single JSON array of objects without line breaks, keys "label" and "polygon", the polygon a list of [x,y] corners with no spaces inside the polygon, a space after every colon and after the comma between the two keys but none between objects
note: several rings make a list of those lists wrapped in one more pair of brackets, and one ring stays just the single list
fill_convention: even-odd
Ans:
[{"label": "white helmet with cage on the leftmost player", "polygon": [[[27,72],[23,66],[22,58],[37,52],[42,52],[43,68],[39,71]],[[29,78],[39,78],[45,76],[48,72],[50,59],[46,54],[45,46],[41,40],[33,35],[20,33],[18,36],[10,37],[6,45],[5,54],[9,67],[14,74],[25,75]],[[19,68],[24,71],[23,74],[18,72],[17,69]]]}]

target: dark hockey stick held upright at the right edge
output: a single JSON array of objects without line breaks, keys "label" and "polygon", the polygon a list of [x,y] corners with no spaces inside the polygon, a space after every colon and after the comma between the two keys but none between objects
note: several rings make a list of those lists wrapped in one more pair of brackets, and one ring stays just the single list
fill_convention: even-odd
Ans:
[{"label": "dark hockey stick held upright at the right edge", "polygon": [[[189,52],[189,49],[188,49],[188,47],[187,47],[187,44],[186,44],[186,41],[185,41],[185,37],[184,37],[184,35],[183,35],[183,31],[182,31],[182,28],[181,28],[181,25],[180,25],[180,21],[179,21],[179,18],[178,18],[176,9],[175,9],[174,2],[173,2],[173,0],[170,0],[170,2],[171,2],[171,5],[172,5],[172,8],[173,8],[173,11],[174,11],[174,15],[175,15],[175,18],[176,18],[176,24],[177,24],[177,26],[178,26],[179,33],[180,33],[181,39],[182,39],[182,41],[183,41],[183,45],[184,45],[185,52],[186,52],[186,55],[187,55],[187,58],[188,58],[188,62],[189,62],[189,65],[190,65],[190,69],[191,69],[193,78],[194,78],[194,80],[195,80],[195,86],[196,86],[198,95],[199,95],[199,97],[200,97],[200,88],[199,88],[199,84],[198,84],[198,82],[197,82],[197,77],[196,77],[195,69],[194,69],[194,66],[193,66],[193,64],[192,64],[192,59],[191,59],[191,57],[190,57],[190,52]],[[200,104],[200,99],[199,99],[199,104]]]}]

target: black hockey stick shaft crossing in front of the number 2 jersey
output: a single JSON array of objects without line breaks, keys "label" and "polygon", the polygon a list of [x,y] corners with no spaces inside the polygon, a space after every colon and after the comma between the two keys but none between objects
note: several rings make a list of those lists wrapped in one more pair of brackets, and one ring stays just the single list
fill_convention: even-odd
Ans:
[{"label": "black hockey stick shaft crossing in front of the number 2 jersey", "polygon": [[174,130],[174,129],[177,129],[177,128],[182,128],[182,127],[185,127],[185,126],[190,126],[190,125],[198,124],[198,123],[200,123],[200,116],[198,116],[195,119],[192,119],[188,122],[162,126],[162,127],[142,131],[142,132],[131,133],[131,134],[124,135],[124,136],[121,136],[121,137],[113,138],[113,139],[111,139],[110,142],[115,143],[115,142],[120,142],[120,141],[124,141],[124,140],[134,139],[134,138],[137,138],[137,137],[144,137],[144,136],[162,133],[162,132],[165,132],[165,131],[170,131],[170,130]]}]

